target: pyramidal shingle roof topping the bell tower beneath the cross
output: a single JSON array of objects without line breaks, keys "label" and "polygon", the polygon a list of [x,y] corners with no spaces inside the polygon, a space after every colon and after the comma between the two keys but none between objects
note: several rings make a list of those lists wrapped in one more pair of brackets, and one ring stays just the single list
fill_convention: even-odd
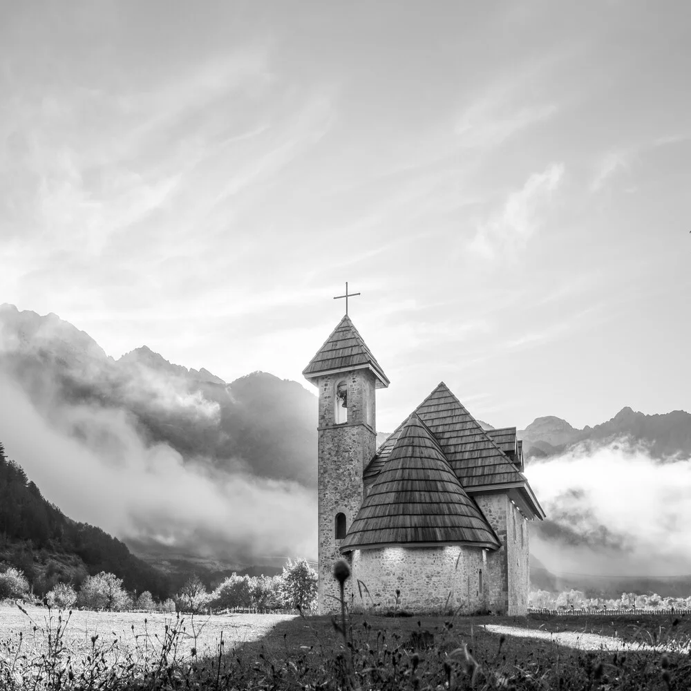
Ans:
[{"label": "pyramidal shingle roof topping the bell tower beneath the cross", "polygon": [[346,314],[310,360],[310,364],[305,367],[303,376],[316,384],[316,378],[321,375],[364,368],[374,373],[377,388],[386,388],[389,385],[384,370]]}]

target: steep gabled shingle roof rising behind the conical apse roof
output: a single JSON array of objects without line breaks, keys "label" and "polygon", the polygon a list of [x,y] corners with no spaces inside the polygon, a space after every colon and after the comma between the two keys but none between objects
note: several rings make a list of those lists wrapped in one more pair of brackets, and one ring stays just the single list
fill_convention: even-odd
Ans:
[{"label": "steep gabled shingle roof rising behind the conical apse roof", "polygon": [[[464,489],[527,482],[443,381],[417,406],[415,413],[439,442]],[[399,426],[379,447],[363,473],[365,480],[381,472],[402,429],[403,425]]]}]

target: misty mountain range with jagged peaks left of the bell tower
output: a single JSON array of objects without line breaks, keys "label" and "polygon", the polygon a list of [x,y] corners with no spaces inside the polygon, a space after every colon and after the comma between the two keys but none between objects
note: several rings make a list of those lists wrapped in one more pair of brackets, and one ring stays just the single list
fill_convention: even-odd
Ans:
[{"label": "misty mountain range with jagged peaks left of the bell tower", "polygon": [[0,306],[0,371],[37,406],[126,410],[148,444],[214,468],[316,485],[316,396],[295,381],[253,372],[227,384],[170,363],[146,346],[108,357],[55,314]]}]

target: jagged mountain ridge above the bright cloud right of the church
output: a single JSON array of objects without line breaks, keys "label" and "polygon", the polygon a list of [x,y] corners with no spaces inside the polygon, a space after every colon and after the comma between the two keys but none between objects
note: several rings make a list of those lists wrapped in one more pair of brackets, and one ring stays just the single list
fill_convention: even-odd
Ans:
[{"label": "jagged mountain ridge above the bright cloud right of the church", "polygon": [[672,410],[663,415],[644,415],[631,408],[622,408],[612,419],[582,430],[572,427],[559,417],[538,417],[524,430],[526,458],[545,458],[563,453],[575,444],[598,446],[616,439],[641,444],[658,460],[691,458],[691,414]]}]

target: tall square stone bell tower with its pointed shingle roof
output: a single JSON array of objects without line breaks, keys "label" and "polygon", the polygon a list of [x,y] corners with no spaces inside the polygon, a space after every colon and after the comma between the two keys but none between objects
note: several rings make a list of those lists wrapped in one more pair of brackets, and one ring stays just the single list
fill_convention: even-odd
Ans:
[{"label": "tall square stone bell tower with its pointed shingle roof", "polygon": [[[377,446],[375,391],[389,380],[345,314],[303,370],[319,393],[319,612],[336,611],[332,576],[363,500],[362,473]],[[348,554],[344,555],[348,558]],[[346,586],[352,583],[352,578]],[[330,597],[333,596],[333,597]]]}]

